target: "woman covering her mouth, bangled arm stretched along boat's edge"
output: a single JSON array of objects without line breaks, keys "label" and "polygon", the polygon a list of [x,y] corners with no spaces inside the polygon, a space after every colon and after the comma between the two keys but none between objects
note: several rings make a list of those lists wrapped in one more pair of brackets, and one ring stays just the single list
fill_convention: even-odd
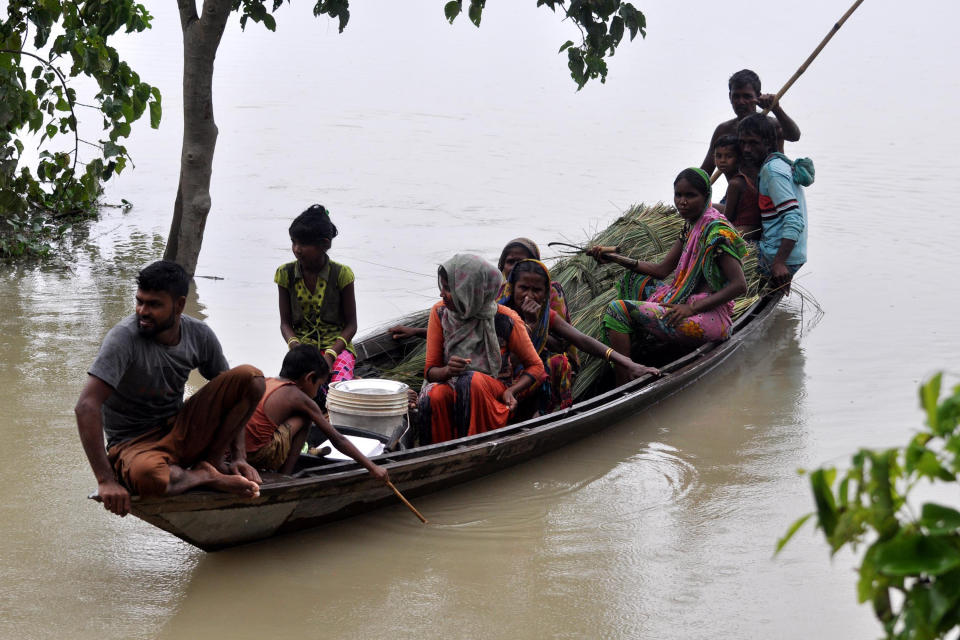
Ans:
[{"label": "woman covering her mouth, bangled arm stretched along boat's edge", "polygon": [[656,369],[637,364],[578,331],[547,303],[548,291],[552,291],[550,270],[539,260],[524,259],[511,265],[510,277],[499,300],[500,304],[513,309],[523,319],[547,373],[542,383],[528,388],[518,398],[518,419],[527,419],[538,413],[545,415],[573,404],[576,371],[567,353],[551,350],[551,337],[560,344],[573,345],[585,353],[612,362],[630,380],[647,374],[659,374]]}]

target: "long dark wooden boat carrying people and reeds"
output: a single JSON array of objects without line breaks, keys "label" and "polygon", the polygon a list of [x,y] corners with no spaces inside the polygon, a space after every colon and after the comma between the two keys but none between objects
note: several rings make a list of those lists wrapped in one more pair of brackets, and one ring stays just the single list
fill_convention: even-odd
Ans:
[{"label": "long dark wooden boat carrying people and reeds", "polygon": [[[769,321],[780,294],[760,298],[734,323],[729,340],[703,345],[657,364],[645,376],[577,402],[569,409],[487,433],[401,449],[374,458],[408,497],[426,494],[523,462],[635,415],[695,382],[748,344]],[[383,332],[357,343],[361,363],[395,362],[398,345]],[[132,513],[205,551],[315,527],[396,504],[391,490],[353,461],[321,464],[301,456],[293,476],[268,474],[254,500],[213,492],[133,499]]]}]

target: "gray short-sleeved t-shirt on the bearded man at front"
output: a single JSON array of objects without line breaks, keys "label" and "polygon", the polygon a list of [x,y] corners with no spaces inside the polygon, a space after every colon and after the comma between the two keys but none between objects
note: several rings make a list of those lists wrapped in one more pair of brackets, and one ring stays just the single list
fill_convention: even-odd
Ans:
[{"label": "gray short-sleeved t-shirt on the bearded man at front", "polygon": [[193,369],[211,380],[228,368],[217,336],[200,320],[180,316],[180,342],[166,346],[137,332],[136,314],[124,318],[107,332],[88,371],[113,387],[102,413],[107,448],[175,415]]}]

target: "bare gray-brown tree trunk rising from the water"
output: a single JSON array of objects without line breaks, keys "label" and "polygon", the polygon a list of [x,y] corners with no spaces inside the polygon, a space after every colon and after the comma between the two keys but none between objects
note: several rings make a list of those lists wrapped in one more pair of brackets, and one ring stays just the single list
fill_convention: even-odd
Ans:
[{"label": "bare gray-brown tree trunk rising from the water", "polygon": [[230,0],[177,0],[183,28],[183,150],[173,222],[163,257],[193,275],[210,213],[210,175],[217,146],[213,120],[213,61],[220,46]]}]

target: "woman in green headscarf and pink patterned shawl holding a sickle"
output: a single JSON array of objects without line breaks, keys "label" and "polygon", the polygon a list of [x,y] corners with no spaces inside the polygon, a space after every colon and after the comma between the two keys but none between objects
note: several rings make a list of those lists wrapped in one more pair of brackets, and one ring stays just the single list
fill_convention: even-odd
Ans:
[{"label": "woman in green headscarf and pink patterned shawl holding a sickle", "polygon": [[[710,206],[710,177],[684,169],[673,183],[673,202],[686,221],[683,233],[660,263],[618,259],[631,271],[618,284],[618,300],[603,324],[610,346],[629,355],[637,329],[664,341],[697,345],[730,337],[733,300],[747,290],[741,262],[743,238]],[[587,253],[606,261],[606,247]],[[667,282],[664,280],[673,274]],[[618,370],[618,382],[625,382]]]}]

